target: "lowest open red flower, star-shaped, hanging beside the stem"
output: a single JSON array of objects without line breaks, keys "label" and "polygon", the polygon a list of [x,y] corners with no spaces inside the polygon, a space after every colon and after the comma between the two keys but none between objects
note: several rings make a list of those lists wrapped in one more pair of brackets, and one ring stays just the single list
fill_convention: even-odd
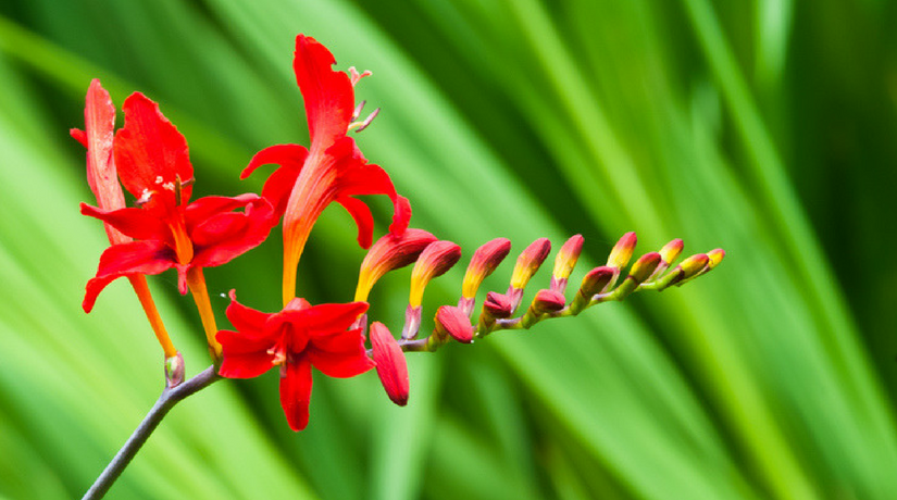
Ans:
[{"label": "lowest open red flower, star-shaped, hanging beside the stem", "polygon": [[366,310],[365,302],[311,305],[292,299],[267,314],[240,304],[231,290],[226,313],[236,332],[217,333],[224,354],[219,374],[251,378],[279,365],[281,404],[290,428],[302,430],[309,423],[312,366],[339,378],[374,367],[361,330],[347,329]]}]

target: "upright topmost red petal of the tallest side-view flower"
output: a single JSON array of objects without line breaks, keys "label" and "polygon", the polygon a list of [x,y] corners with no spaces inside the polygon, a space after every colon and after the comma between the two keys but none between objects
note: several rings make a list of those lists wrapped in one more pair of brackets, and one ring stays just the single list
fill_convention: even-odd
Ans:
[{"label": "upright topmost red petal of the tallest side-view flower", "polygon": [[354,111],[354,90],[349,75],[335,72],[336,62],[314,38],[296,37],[292,68],[306,102],[312,149],[335,142],[346,135]]}]

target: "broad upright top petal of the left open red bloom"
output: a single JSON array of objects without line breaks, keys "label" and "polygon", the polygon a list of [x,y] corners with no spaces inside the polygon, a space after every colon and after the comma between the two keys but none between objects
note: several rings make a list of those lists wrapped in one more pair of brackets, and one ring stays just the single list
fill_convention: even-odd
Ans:
[{"label": "broad upright top petal of the left open red bloom", "polygon": [[[140,92],[132,93],[122,107],[125,126],[115,135],[115,164],[122,184],[138,199],[154,192],[147,208],[170,210],[176,203],[171,183],[194,177],[187,140],[159,111],[159,104]],[[190,198],[190,186],[182,188],[182,203]]]}]

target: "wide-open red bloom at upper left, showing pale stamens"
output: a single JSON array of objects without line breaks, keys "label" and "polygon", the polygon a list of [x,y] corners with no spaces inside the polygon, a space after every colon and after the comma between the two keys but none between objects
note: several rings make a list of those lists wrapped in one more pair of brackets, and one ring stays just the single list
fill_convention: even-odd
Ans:
[{"label": "wide-open red bloom at upper left, showing pale stamens", "polygon": [[[264,241],[275,222],[269,202],[257,195],[207,197],[188,204],[194,168],[184,136],[142,93],[128,97],[123,111],[125,126],[115,135],[114,161],[140,208],[105,210],[82,203],[82,213],[137,241],[103,252],[97,276],[87,284],[83,305],[88,312],[97,295],[121,276],[175,267],[178,289],[186,293],[190,268],[229,262]],[[235,212],[240,208],[242,212]]]}]

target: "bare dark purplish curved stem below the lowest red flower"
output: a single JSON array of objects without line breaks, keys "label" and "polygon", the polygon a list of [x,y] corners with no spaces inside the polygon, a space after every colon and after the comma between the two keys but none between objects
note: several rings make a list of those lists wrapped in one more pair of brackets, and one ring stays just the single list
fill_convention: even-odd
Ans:
[{"label": "bare dark purplish curved stem below the lowest red flower", "polygon": [[140,425],[137,426],[134,434],[130,435],[122,449],[119,450],[119,453],[115,454],[115,458],[109,462],[109,465],[105,466],[102,474],[94,482],[94,486],[84,493],[82,500],[103,498],[105,492],[109,491],[109,488],[112,487],[112,484],[115,483],[115,479],[122,475],[127,464],[130,463],[130,460],[134,459],[134,455],[140,450],[140,447],[147,442],[147,439],[149,439],[152,432],[155,430],[155,427],[159,426],[162,418],[169,413],[169,410],[174,408],[174,405],[184,398],[209,387],[221,378],[215,366],[212,365],[184,384],[163,390],[162,396],[159,397],[159,400],[155,401],[155,404],[153,404],[152,409],[147,413],[147,416],[144,417],[144,422],[140,422]]}]

